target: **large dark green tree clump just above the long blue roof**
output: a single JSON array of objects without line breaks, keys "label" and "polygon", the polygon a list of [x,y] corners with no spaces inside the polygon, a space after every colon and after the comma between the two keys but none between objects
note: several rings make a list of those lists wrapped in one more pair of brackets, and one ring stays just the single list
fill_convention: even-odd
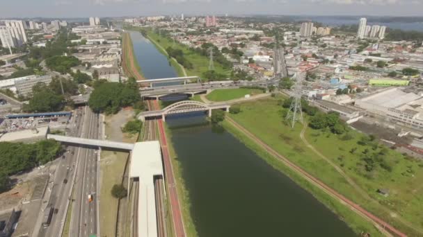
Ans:
[{"label": "large dark green tree clump just above the long blue roof", "polygon": [[62,95],[55,94],[47,85],[40,82],[33,87],[33,96],[23,109],[26,112],[60,111],[64,102]]}]

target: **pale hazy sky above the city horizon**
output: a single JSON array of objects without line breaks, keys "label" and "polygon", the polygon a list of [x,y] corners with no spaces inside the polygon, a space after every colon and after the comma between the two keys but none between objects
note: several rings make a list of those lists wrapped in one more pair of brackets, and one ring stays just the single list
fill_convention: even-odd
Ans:
[{"label": "pale hazy sky above the city horizon", "polygon": [[423,0],[1,0],[0,18],[143,15],[421,16]]}]

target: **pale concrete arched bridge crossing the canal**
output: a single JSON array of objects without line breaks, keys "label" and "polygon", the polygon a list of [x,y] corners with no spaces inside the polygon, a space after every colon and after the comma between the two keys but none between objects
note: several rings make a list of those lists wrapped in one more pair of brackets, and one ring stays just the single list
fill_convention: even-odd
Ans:
[{"label": "pale concrete arched bridge crossing the canal", "polygon": [[141,112],[138,115],[138,119],[141,119],[141,121],[145,121],[146,118],[161,116],[161,119],[165,121],[165,117],[168,114],[184,114],[184,113],[196,112],[196,111],[208,111],[209,116],[212,116],[213,109],[225,109],[225,111],[228,112],[229,108],[230,108],[230,105],[223,104],[223,103],[207,105],[205,103],[201,103],[198,101],[184,100],[184,101],[179,101],[177,103],[169,105],[168,107],[161,110]]}]

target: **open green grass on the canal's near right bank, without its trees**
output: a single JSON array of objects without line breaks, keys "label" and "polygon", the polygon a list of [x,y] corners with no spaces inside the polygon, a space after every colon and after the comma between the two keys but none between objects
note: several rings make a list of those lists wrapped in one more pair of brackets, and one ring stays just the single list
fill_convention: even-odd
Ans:
[{"label": "open green grass on the canal's near right bank, without its trees", "polygon": [[[353,139],[343,141],[341,136],[308,128],[305,137],[319,152],[342,167],[360,188],[376,201],[369,201],[362,193],[356,191],[340,173],[327,161],[319,157],[313,150],[305,146],[300,137],[301,124],[290,128],[282,119],[282,107],[278,100],[283,98],[266,98],[241,104],[241,113],[230,114],[235,121],[248,128],[250,132],[266,142],[274,150],[301,166],[308,173],[318,177],[328,186],[345,195],[347,198],[375,213],[391,225],[398,227],[410,236],[421,236],[423,227],[423,165],[420,161],[407,159],[394,150],[388,151],[390,159],[394,160],[391,172],[377,169],[374,177],[362,174],[360,153],[370,147],[359,146],[359,132],[351,131]],[[307,118],[306,118],[307,119]],[[381,145],[380,145],[381,146]],[[381,149],[379,148],[377,149]],[[358,149],[354,154],[351,148]],[[376,193],[378,188],[388,188],[388,198]],[[394,217],[394,211],[401,216]],[[413,227],[409,227],[412,225]]]}]

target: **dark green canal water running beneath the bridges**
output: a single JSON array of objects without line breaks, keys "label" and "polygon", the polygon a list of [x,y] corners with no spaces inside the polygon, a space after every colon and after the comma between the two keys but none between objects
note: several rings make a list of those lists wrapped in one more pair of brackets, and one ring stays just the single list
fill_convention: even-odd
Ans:
[{"label": "dark green canal water running beneath the bridges", "polygon": [[[142,36],[132,41],[144,52],[141,58],[159,58],[158,51],[143,49],[151,44]],[[356,236],[310,193],[232,134],[210,125],[204,114],[170,116],[166,123],[198,236]]]}]

